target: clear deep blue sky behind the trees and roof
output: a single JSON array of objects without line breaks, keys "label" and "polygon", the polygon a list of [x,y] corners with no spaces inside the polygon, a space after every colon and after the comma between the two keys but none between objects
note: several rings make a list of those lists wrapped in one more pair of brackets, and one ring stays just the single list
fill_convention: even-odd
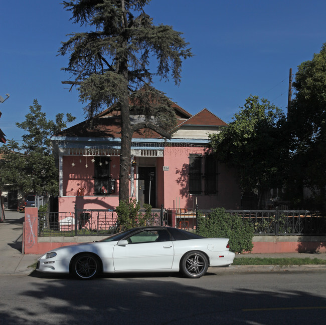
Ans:
[{"label": "clear deep blue sky behind the trees and roof", "polygon": [[[23,122],[37,99],[48,119],[72,113],[83,121],[78,92],[61,81],[68,57],[57,51],[67,34],[80,31],[62,1],[2,2],[0,19],[0,128],[21,142]],[[183,32],[194,57],[183,64],[182,82],[155,81],[191,114],[209,109],[225,122],[250,95],[286,110],[289,69],[311,60],[326,42],[326,2],[303,0],[153,0],[145,7],[155,24]],[[75,123],[74,123],[75,124]]]}]

